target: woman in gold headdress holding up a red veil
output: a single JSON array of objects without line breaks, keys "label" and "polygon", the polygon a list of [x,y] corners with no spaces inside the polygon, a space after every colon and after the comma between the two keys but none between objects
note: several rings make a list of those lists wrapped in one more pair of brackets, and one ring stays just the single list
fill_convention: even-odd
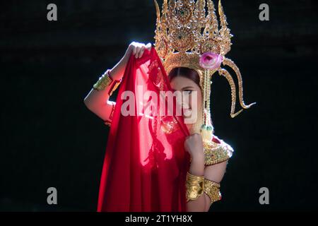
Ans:
[{"label": "woman in gold headdress holding up a red veil", "polygon": [[[85,99],[92,112],[106,124],[112,124],[99,211],[208,211],[211,203],[221,198],[220,182],[233,152],[230,145],[213,134],[210,114],[213,74],[224,76],[230,83],[230,116],[234,118],[242,112],[241,109],[235,113],[235,82],[221,64],[235,71],[242,108],[255,104],[245,105],[240,70],[225,57],[232,35],[220,0],[220,23],[213,1],[164,0],[162,13],[156,1],[155,7],[155,49],[151,44],[131,43],[122,60],[94,85],[99,91],[92,90]],[[138,116],[121,117],[122,107],[126,106],[122,97],[117,97],[116,107],[114,102],[108,102],[121,79],[119,96],[124,91],[124,97],[128,93],[134,95],[132,103],[138,109],[144,106],[165,109],[167,105],[166,97],[165,105],[158,105],[151,95],[146,97],[151,105],[145,105],[139,86],[155,95],[160,95],[159,91],[186,94],[181,100],[183,118],[145,111]],[[180,100],[174,103],[173,110],[179,104]],[[129,105],[126,112],[136,112],[135,107]],[[196,120],[190,122],[188,119],[193,116],[197,116]],[[118,179],[118,172],[122,173],[122,180]],[[120,196],[114,197],[114,192]]]}]

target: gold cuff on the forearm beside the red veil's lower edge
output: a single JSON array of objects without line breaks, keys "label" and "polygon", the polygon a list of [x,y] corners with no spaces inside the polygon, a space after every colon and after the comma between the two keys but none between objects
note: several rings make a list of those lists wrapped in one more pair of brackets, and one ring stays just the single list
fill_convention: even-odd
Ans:
[{"label": "gold cuff on the forearm beside the red veil's lower edge", "polygon": [[196,200],[204,193],[204,176],[195,176],[187,172],[187,202]]}]

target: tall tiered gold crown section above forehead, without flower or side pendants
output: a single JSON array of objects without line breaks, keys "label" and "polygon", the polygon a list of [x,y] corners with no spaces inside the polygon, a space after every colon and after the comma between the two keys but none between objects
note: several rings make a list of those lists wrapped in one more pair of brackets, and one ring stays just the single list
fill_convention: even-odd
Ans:
[{"label": "tall tiered gold crown section above forehead, without flower or side pendants", "polygon": [[[208,13],[206,16],[206,5]],[[221,29],[218,30],[216,10],[211,0],[167,0],[163,12],[155,1],[157,29],[155,47],[159,57],[165,59],[167,73],[175,64],[189,64],[190,68],[204,71],[199,65],[199,57],[204,52],[214,52],[223,56],[230,51],[231,37],[223,7],[218,5]],[[197,63],[197,64],[196,64]]]}]

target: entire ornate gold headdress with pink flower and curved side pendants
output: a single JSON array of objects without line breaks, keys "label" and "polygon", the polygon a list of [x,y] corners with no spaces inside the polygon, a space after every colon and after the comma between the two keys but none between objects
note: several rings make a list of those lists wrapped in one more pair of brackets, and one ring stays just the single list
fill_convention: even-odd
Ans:
[{"label": "entire ornate gold headdress with pink flower and curved side pendants", "polygon": [[[227,27],[223,7],[219,0],[219,30],[212,0],[170,0],[169,4],[167,0],[164,0],[161,15],[157,1],[154,1],[157,11],[155,49],[163,60],[167,74],[176,67],[187,67],[199,73],[204,97],[201,133],[204,140],[211,141],[213,135],[210,113],[211,77],[216,71],[221,76],[225,76],[230,83],[232,94],[230,116],[232,118],[240,114],[243,109],[248,109],[255,104],[245,105],[240,70],[233,61],[225,57],[225,54],[230,51],[232,35]],[[235,113],[235,83],[230,73],[220,67],[221,63],[230,66],[237,75],[240,105],[243,108],[239,112]]]}]

